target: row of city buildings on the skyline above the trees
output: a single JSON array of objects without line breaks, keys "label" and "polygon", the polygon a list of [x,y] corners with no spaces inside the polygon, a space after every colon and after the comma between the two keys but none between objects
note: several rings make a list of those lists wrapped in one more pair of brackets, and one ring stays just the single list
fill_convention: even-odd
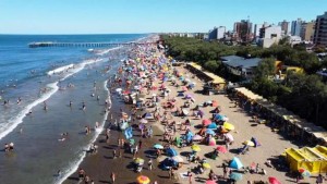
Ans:
[{"label": "row of city buildings on the skyline above the trees", "polygon": [[226,26],[214,27],[208,33],[172,33],[171,36],[198,37],[210,41],[223,41],[235,44],[255,44],[263,48],[269,48],[284,39],[293,45],[305,44],[308,47],[327,46],[327,12],[317,15],[316,20],[294,21],[283,20],[278,25],[264,22],[254,24],[247,20],[235,22],[232,30],[227,30]]}]

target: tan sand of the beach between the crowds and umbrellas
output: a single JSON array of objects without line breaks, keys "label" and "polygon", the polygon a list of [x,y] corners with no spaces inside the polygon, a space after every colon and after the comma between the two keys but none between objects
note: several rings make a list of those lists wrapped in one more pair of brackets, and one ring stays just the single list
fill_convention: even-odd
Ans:
[{"label": "tan sand of the beach between the crowds and umbrellas", "polygon": [[[161,52],[152,52],[153,56],[156,59],[159,57],[165,58]],[[154,59],[153,57],[148,59],[148,64],[150,65],[150,60]],[[168,61],[167,58],[165,58],[166,61]],[[133,60],[136,60],[134,58]],[[147,59],[144,59],[147,61]],[[194,143],[195,145],[198,145],[201,148],[201,151],[197,151],[196,156],[201,158],[205,158],[205,162],[207,162],[210,165],[210,169],[213,172],[217,175],[217,182],[220,184],[223,183],[230,183],[228,179],[223,179],[223,171],[222,171],[222,164],[227,163],[233,159],[234,157],[238,157],[241,162],[243,163],[244,168],[255,165],[254,170],[258,170],[258,173],[250,173],[245,172],[244,169],[241,169],[239,172],[241,173],[242,180],[240,180],[238,183],[247,183],[247,182],[268,182],[269,176],[277,177],[281,183],[295,183],[295,179],[289,177],[286,171],[280,171],[280,169],[275,169],[267,167],[265,162],[268,159],[271,160],[279,160],[279,156],[284,151],[286,148],[299,148],[294,143],[284,139],[284,137],[280,136],[279,134],[276,134],[271,131],[270,127],[264,125],[264,124],[255,124],[253,123],[252,116],[244,111],[240,107],[235,107],[234,102],[231,101],[230,98],[226,94],[219,94],[219,95],[203,95],[198,91],[203,89],[203,81],[201,78],[197,78],[196,76],[193,76],[190,71],[187,71],[184,65],[175,66],[175,72],[182,74],[185,78],[190,78],[193,83],[195,83],[195,87],[191,90],[184,91],[185,95],[192,96],[192,99],[194,102],[191,102],[191,106],[189,108],[189,115],[186,116],[175,116],[175,115],[169,115],[172,112],[172,109],[166,109],[168,113],[167,121],[170,123],[174,121],[177,124],[183,124],[187,119],[191,122],[191,126],[189,127],[190,132],[193,134],[196,134],[199,131],[199,125],[202,124],[204,119],[211,118],[210,111],[215,109],[215,107],[202,107],[201,110],[204,113],[203,118],[196,118],[192,115],[193,111],[192,109],[195,108],[197,105],[202,105],[209,100],[215,100],[218,102],[218,106],[221,107],[220,114],[226,115],[229,120],[228,122],[234,125],[234,130],[230,131],[229,133],[233,136],[234,142],[232,145],[229,146],[228,152],[226,154],[219,154],[218,158],[216,160],[208,158],[207,154],[211,152],[217,146],[221,145],[225,147],[225,142],[222,139],[217,139],[216,146],[208,146],[206,144],[202,143]],[[172,70],[171,70],[172,71]],[[157,68],[153,71],[160,72],[160,68]],[[157,73],[159,74],[159,73]],[[159,76],[159,75],[157,75]],[[147,78],[148,79],[148,78]],[[155,107],[153,108],[146,108],[145,111],[137,111],[136,115],[133,116],[135,119],[134,121],[130,122],[130,126],[133,127],[133,138],[135,139],[136,144],[140,139],[142,139],[143,146],[140,150],[137,157],[143,158],[145,160],[145,163],[149,160],[149,158],[154,158],[154,151],[155,149],[153,146],[155,144],[161,144],[167,145],[167,142],[164,142],[162,134],[168,126],[162,124],[164,119],[164,112],[165,108],[164,106],[168,101],[168,99],[174,98],[174,106],[181,107],[186,101],[182,96],[179,97],[179,94],[181,93],[182,88],[182,82],[177,79],[175,82],[179,86],[175,87],[172,85],[171,81],[164,82],[161,79],[154,79],[153,82],[153,90],[149,91],[149,94],[146,94],[146,91],[143,91],[145,96],[145,99],[150,101],[153,99],[154,94],[156,96],[159,96],[160,91],[158,90],[159,86],[165,85],[165,88],[169,88],[169,97],[159,97],[158,106],[160,106],[159,114],[161,118],[159,121],[148,121],[146,126],[152,125],[154,130],[154,134],[152,138],[144,138],[141,136],[141,131],[138,128],[140,120],[136,119],[137,114],[143,114],[145,111],[147,112],[154,112],[156,110]],[[124,84],[124,83],[123,83]],[[135,84],[134,82],[132,84]],[[118,87],[113,87],[112,91],[114,91]],[[121,111],[126,112],[126,114],[131,114],[132,106],[125,106],[122,97],[119,97],[117,93],[112,93],[112,109],[108,115],[107,124],[109,122],[113,122],[114,120],[119,120],[121,118]],[[112,115],[112,119],[111,119]],[[180,123],[179,123],[180,122]],[[173,134],[174,137],[179,137],[181,135],[185,134],[184,130],[181,130],[179,125],[177,126],[177,132]],[[255,137],[261,146],[258,147],[250,147],[250,150],[242,155],[239,155],[238,149],[242,148],[245,140],[250,140],[252,137]],[[160,161],[165,160],[167,158],[166,155],[161,155],[157,159],[154,160],[154,169],[148,170],[147,164],[144,164],[143,170],[141,173],[137,173],[134,171],[133,167],[133,155],[129,151],[125,151],[122,154],[121,158],[113,158],[113,149],[119,150],[118,147],[118,138],[124,138],[124,135],[122,132],[117,131],[117,128],[111,128],[110,131],[110,142],[106,143],[106,134],[102,133],[96,144],[99,146],[97,154],[90,154],[88,155],[85,160],[82,162],[80,168],[84,169],[86,171],[86,175],[88,175],[94,183],[111,183],[110,174],[111,172],[114,172],[117,174],[116,183],[119,184],[128,184],[128,183],[135,183],[136,177],[142,175],[146,175],[150,179],[150,183],[154,183],[157,181],[157,183],[190,183],[190,177],[185,175],[187,171],[192,172],[191,181],[192,183],[206,183],[209,175],[209,170],[207,169],[204,171],[204,173],[199,174],[196,171],[196,167],[198,167],[198,163],[187,161],[186,155],[192,152],[191,146],[184,146],[184,147],[177,147],[174,144],[170,145],[171,148],[175,149],[179,155],[182,157],[182,165],[174,170],[173,179],[169,179],[169,171],[164,171],[158,168],[158,164]],[[265,171],[265,173],[263,172]],[[228,174],[229,175],[229,174]],[[315,177],[308,177],[304,181],[301,181],[304,183],[314,183]],[[77,172],[75,172],[73,175],[71,175],[64,184],[74,184],[78,183],[78,176]],[[81,183],[81,181],[80,181]]]}]

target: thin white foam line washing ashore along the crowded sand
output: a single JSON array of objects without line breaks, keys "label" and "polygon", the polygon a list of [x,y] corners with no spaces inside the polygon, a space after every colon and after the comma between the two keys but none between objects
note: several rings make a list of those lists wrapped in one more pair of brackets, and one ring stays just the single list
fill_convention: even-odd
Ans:
[{"label": "thin white foam line washing ashore along the crowded sand", "polygon": [[[107,83],[108,83],[108,81],[104,82],[104,88],[105,88],[105,90],[108,94],[108,99],[109,99],[109,107],[108,107],[108,109],[111,109],[111,98],[110,98],[110,91],[109,91],[109,89],[107,87]],[[77,156],[77,159],[75,161],[70,162],[70,164],[63,170],[62,177],[57,179],[56,184],[63,183],[70,175],[72,175],[75,171],[77,171],[80,164],[82,163],[82,161],[86,157],[86,151],[85,150],[88,150],[88,148],[90,147],[90,145],[96,142],[96,139],[98,138],[98,136],[100,135],[100,133],[104,131],[104,127],[105,127],[108,114],[109,114],[109,111],[107,110],[106,113],[105,113],[105,115],[104,115],[102,122],[100,124],[100,128],[98,131],[95,131],[95,135],[93,136],[93,138],[90,139],[90,142],[85,147],[83,147],[82,150],[80,150],[82,152],[78,151],[80,154]]]}]

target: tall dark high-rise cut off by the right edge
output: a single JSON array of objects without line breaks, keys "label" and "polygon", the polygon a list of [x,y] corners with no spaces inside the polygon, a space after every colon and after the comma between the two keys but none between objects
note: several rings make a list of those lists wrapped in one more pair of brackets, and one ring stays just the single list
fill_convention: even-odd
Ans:
[{"label": "tall dark high-rise cut off by the right edge", "polygon": [[317,16],[313,41],[316,46],[327,46],[327,12]]}]

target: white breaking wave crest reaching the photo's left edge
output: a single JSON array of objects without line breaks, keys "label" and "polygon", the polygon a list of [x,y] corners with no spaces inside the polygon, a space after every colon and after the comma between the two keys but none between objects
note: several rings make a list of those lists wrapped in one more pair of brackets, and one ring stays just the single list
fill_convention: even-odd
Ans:
[{"label": "white breaking wave crest reaching the photo's left edge", "polygon": [[58,82],[50,83],[47,85],[47,88],[50,88],[49,91],[44,94],[40,98],[36,99],[32,103],[27,105],[21,112],[19,112],[17,115],[13,116],[9,120],[8,123],[5,123],[3,126],[0,127],[0,139],[5,137],[9,133],[11,133],[15,127],[17,127],[19,124],[23,122],[23,119],[26,116],[26,114],[29,113],[29,111],[36,107],[37,105],[41,103],[43,101],[49,99],[56,91],[58,91]]}]

